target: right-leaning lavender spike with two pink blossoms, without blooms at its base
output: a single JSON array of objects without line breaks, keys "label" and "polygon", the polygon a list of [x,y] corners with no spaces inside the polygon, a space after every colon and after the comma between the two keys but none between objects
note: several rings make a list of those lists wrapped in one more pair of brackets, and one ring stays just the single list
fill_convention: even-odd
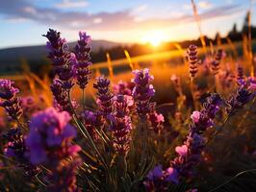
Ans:
[{"label": "right-leaning lavender spike with two pink blossoms, without blooms at its base", "polygon": [[213,119],[220,105],[221,98],[215,93],[207,99],[200,111],[193,111],[192,125],[190,125],[190,133],[187,136],[187,140],[184,145],[175,148],[178,156],[171,161],[170,167],[177,174],[175,178],[193,176],[192,169],[199,162],[201,152],[205,147],[205,140],[201,134],[214,125]]}]

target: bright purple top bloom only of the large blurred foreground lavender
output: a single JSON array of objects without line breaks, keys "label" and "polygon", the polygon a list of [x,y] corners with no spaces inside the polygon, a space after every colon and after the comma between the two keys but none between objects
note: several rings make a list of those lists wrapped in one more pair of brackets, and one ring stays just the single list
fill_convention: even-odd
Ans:
[{"label": "bright purple top bloom only of the large blurred foreground lavender", "polygon": [[33,164],[58,161],[60,156],[71,155],[70,139],[76,136],[76,130],[68,124],[69,120],[67,112],[58,112],[55,108],[33,115],[26,139]]}]

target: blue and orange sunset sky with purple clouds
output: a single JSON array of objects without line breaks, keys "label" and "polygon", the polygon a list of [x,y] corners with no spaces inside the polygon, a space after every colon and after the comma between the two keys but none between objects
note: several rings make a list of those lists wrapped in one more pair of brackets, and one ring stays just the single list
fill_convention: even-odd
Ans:
[{"label": "blue and orange sunset sky with purple clouds", "polygon": [[[233,24],[243,25],[249,0],[195,0],[202,32],[225,35]],[[256,24],[255,1],[252,23]],[[255,12],[255,13],[254,13]],[[67,40],[78,31],[92,39],[146,42],[198,36],[191,0],[0,0],[0,48],[45,43],[48,28],[60,30]]]}]

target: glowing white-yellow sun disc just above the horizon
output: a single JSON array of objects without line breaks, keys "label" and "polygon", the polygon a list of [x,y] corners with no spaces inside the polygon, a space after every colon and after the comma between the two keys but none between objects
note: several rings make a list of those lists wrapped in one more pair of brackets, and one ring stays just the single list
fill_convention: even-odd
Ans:
[{"label": "glowing white-yellow sun disc just above the horizon", "polygon": [[150,43],[152,46],[157,47],[165,39],[166,39],[166,36],[165,36],[165,34],[163,32],[153,31],[153,32],[146,33],[145,36],[142,36],[141,41],[143,43]]}]

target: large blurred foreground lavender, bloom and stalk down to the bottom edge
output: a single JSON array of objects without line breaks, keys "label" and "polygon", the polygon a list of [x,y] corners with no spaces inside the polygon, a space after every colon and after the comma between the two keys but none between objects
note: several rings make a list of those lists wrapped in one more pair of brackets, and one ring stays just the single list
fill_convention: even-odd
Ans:
[{"label": "large blurred foreground lavender, bloom and stalk down to the bottom edge", "polygon": [[68,124],[67,112],[46,108],[31,119],[26,138],[27,156],[34,165],[42,164],[51,173],[49,191],[77,191],[75,171],[79,165],[81,148],[72,144],[76,130]]}]

